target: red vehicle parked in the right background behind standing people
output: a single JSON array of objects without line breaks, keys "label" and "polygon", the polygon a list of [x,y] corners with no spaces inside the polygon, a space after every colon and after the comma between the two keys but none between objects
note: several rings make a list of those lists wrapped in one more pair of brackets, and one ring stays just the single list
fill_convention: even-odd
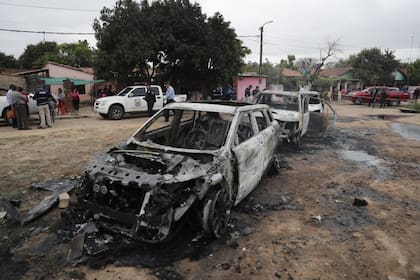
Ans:
[{"label": "red vehicle parked in the right background behind standing people", "polygon": [[370,93],[374,89],[378,90],[378,94],[376,96],[376,103],[380,102],[380,94],[382,91],[386,92],[386,104],[397,106],[400,104],[401,101],[406,101],[410,98],[410,94],[408,92],[402,92],[398,88],[394,87],[369,87],[364,89],[363,91],[355,91],[350,92],[348,94],[348,98],[353,102],[353,104],[360,105],[362,103],[368,103],[370,100]]}]

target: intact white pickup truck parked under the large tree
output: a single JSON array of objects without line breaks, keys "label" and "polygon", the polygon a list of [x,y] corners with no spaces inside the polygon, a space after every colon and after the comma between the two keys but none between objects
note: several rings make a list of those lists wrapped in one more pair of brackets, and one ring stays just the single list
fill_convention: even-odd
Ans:
[{"label": "intact white pickup truck parked under the large tree", "polygon": [[[153,110],[159,110],[165,104],[165,94],[162,88],[151,85],[151,90],[156,96],[156,103]],[[94,111],[104,118],[120,120],[125,113],[147,112],[146,86],[128,86],[118,92],[115,96],[101,97],[95,101]],[[187,99],[185,94],[175,95],[175,102],[183,102]]]}]

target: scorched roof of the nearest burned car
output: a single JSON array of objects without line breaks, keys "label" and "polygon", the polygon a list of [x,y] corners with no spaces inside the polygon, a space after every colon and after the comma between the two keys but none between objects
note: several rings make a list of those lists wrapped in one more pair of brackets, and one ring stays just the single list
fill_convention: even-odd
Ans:
[{"label": "scorched roof of the nearest burned car", "polygon": [[235,114],[236,112],[245,112],[258,109],[269,109],[265,104],[250,104],[235,101],[193,101],[193,102],[174,102],[165,106],[168,109],[182,109],[193,111],[208,111]]}]

